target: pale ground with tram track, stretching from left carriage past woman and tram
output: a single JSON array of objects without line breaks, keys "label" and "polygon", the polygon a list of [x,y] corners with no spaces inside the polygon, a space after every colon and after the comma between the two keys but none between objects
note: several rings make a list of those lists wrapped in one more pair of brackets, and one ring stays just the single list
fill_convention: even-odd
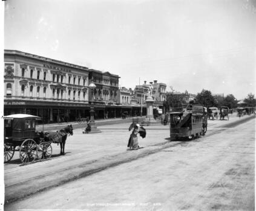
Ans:
[{"label": "pale ground with tram track, stretching from left carriage past woman and tram", "polygon": [[[253,117],[244,116],[241,119],[249,118]],[[241,119],[234,116],[229,121],[208,121],[208,131],[214,133],[216,126]],[[102,125],[98,127],[102,133],[98,134],[82,134],[82,128],[78,128],[73,136],[68,136],[65,156],[59,156],[59,146],[53,144],[50,160],[30,165],[5,164],[5,203],[180,144],[169,142],[169,125],[151,125],[145,126],[145,139],[139,139],[139,145],[144,148],[127,151],[129,126],[130,122]]]}]

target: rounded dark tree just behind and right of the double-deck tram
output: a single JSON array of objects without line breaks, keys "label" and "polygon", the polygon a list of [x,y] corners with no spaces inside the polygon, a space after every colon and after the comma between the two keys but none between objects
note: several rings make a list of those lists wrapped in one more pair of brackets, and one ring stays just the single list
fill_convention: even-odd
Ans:
[{"label": "rounded dark tree just behind and right of the double-deck tram", "polygon": [[218,103],[217,100],[212,96],[211,91],[205,89],[203,89],[202,92],[197,93],[195,101],[207,108],[216,107]]}]

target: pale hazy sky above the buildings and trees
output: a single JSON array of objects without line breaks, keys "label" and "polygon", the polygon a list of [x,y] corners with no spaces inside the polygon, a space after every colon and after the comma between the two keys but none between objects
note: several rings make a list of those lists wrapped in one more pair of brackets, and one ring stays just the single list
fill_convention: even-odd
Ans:
[{"label": "pale hazy sky above the buildings and trees", "polygon": [[119,75],[119,86],[256,87],[256,0],[7,0],[4,48]]}]

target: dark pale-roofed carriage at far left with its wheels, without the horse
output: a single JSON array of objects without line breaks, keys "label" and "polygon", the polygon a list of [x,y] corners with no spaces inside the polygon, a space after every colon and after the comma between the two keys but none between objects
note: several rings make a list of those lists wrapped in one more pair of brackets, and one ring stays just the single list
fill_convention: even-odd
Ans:
[{"label": "dark pale-roofed carriage at far left with its wheels, without the horse", "polygon": [[4,162],[10,161],[15,151],[19,151],[22,163],[41,159],[45,153],[51,156],[50,143],[44,142],[42,133],[36,131],[39,119],[39,116],[25,114],[4,116]]}]

